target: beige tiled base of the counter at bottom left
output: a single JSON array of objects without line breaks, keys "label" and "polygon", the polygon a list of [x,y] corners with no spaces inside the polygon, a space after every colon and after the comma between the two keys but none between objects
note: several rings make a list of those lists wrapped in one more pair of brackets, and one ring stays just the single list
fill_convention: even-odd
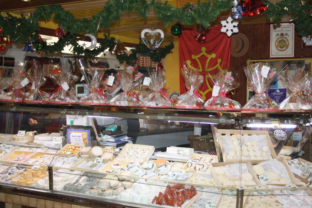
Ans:
[{"label": "beige tiled base of the counter at bottom left", "polygon": [[91,208],[0,192],[0,208]]}]

